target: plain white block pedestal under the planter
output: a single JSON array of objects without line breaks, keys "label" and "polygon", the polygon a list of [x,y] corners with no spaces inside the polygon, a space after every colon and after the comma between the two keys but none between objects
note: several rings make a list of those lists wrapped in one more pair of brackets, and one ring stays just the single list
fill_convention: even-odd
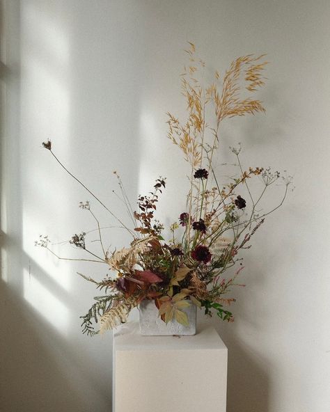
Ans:
[{"label": "plain white block pedestal under the planter", "polygon": [[226,412],[227,348],[212,327],[194,336],[113,335],[113,412]]}]

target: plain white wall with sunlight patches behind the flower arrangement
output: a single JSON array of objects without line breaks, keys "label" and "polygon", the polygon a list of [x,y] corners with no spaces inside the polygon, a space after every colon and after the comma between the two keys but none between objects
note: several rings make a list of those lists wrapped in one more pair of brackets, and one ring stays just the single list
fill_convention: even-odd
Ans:
[{"label": "plain white wall with sunlight patches behind the flower arrangement", "polygon": [[[178,74],[190,40],[220,72],[239,55],[268,54],[267,115],[228,122],[221,153],[241,141],[248,165],[288,169],[296,187],[246,254],[235,323],[214,319],[229,349],[228,412],[329,411],[329,1],[2,6],[1,410],[110,410],[111,334],[90,339],[79,328],[95,290],[75,272],[95,267],[33,246],[40,233],[61,241],[93,228],[77,208],[89,196],[41,142],[51,138],[117,212],[114,169],[133,201],[166,175],[159,210],[171,222],[185,168],[164,113],[184,109]],[[114,232],[113,246],[125,242]]]}]

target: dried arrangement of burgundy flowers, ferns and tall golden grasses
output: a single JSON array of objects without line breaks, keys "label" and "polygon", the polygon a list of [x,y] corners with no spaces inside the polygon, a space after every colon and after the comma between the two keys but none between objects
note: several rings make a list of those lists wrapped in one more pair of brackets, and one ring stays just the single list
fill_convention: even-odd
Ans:
[{"label": "dried arrangement of burgundy flowers, ferns and tall golden grasses", "polygon": [[[51,141],[42,143],[66,172],[81,184],[113,219],[132,235],[127,248],[110,253],[104,246],[100,222],[89,202],[79,207],[91,213],[97,224],[100,253],[87,246],[86,232],[74,235],[70,243],[91,258],[79,259],[103,263],[109,274],[102,280],[79,274],[94,283],[103,292],[82,316],[82,331],[88,335],[104,332],[127,321],[132,308],[143,301],[155,301],[159,316],[164,322],[176,319],[187,325],[184,308],[196,305],[205,315],[215,312],[222,320],[232,322],[233,314],[226,308],[235,299],[228,296],[230,288],[237,285],[237,276],[243,269],[239,251],[249,248],[250,239],[265,221],[265,216],[283,204],[291,178],[270,168],[243,168],[240,146],[232,148],[237,173],[219,182],[214,171],[214,154],[219,147],[221,122],[234,116],[265,112],[262,102],[252,97],[241,97],[243,92],[252,95],[264,85],[262,71],[267,62],[264,56],[243,56],[230,65],[222,80],[215,72],[210,86],[203,86],[198,75],[205,63],[196,57],[195,46],[189,43],[186,51],[189,65],[181,76],[182,93],[187,100],[187,119],[183,122],[171,113],[168,116],[168,138],[176,145],[189,165],[189,193],[187,206],[171,227],[171,238],[164,239],[164,225],[155,219],[159,196],[166,187],[166,179],[159,177],[152,192],[139,196],[134,210],[118,177],[118,184],[126,209],[132,218],[129,228],[122,219],[111,212],[68,168],[56,157]],[[211,109],[211,110],[210,110]],[[257,196],[251,182],[258,179],[262,189]],[[260,200],[269,187],[281,183],[283,193],[278,203],[267,211],[259,209]],[[244,198],[242,194],[244,194]],[[54,253],[47,236],[40,236],[36,245]],[[56,255],[58,258],[58,255]],[[233,269],[231,269],[233,268]],[[226,278],[226,273],[232,274]],[[100,328],[95,330],[95,324]]]}]

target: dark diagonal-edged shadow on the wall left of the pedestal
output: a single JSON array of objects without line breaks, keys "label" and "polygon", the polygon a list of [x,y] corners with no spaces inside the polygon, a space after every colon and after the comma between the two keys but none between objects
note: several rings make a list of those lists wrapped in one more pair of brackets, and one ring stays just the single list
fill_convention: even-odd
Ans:
[{"label": "dark diagonal-edged shadow on the wall left of the pedestal", "polygon": [[[81,370],[84,363],[2,281],[1,314],[1,410],[92,411],[93,404],[86,404],[77,392],[77,379],[87,374]],[[91,392],[93,382],[84,386],[86,393]],[[111,404],[110,398],[107,403]]]}]

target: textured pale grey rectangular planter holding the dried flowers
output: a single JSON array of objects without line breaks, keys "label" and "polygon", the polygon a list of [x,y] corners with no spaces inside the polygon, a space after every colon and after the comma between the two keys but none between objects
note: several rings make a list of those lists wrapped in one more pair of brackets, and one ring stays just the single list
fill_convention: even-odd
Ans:
[{"label": "textured pale grey rectangular planter holding the dried flowers", "polygon": [[180,309],[187,313],[189,326],[179,324],[175,319],[165,322],[158,316],[158,309],[154,301],[142,301],[140,310],[140,332],[143,336],[165,335],[196,335],[196,306],[191,304],[188,308]]}]

